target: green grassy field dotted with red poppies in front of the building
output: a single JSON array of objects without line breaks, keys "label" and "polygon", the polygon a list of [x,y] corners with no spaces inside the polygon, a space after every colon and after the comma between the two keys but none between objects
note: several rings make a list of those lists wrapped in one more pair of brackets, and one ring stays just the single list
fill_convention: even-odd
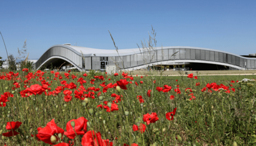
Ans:
[{"label": "green grassy field dotted with red poppies in front of the building", "polygon": [[254,78],[4,72],[0,145],[256,145]]}]

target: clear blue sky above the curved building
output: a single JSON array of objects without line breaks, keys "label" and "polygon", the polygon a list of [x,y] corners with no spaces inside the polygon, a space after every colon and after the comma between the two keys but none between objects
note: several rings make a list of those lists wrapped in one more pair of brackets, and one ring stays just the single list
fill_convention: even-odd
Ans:
[{"label": "clear blue sky above the curved building", "polygon": [[[256,53],[256,1],[0,1],[0,31],[17,56],[27,39],[29,58],[56,44],[137,48],[153,25],[158,46],[190,46]],[[0,56],[7,58],[0,41]]]}]

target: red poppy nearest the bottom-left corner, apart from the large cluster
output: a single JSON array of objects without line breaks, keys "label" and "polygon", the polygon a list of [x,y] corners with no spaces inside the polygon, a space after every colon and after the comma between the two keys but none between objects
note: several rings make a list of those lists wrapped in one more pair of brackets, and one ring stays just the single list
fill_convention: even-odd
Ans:
[{"label": "red poppy nearest the bottom-left corner, apart from the large cluster", "polygon": [[19,126],[22,124],[22,122],[7,122],[6,124],[6,130],[9,130],[9,132],[3,133],[2,135],[5,137],[11,137],[19,134],[19,132],[16,132],[16,129],[19,128]]}]

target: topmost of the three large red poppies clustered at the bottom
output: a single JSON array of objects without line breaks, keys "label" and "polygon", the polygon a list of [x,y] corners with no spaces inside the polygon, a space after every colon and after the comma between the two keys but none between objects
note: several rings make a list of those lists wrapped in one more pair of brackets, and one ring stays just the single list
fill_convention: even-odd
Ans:
[{"label": "topmost of the three large red poppies clustered at the bottom", "polygon": [[[72,121],[75,122],[74,129],[71,125]],[[69,139],[74,139],[76,135],[84,135],[84,133],[87,131],[87,119],[84,117],[72,119],[71,121],[67,122],[66,130],[67,132],[64,132],[64,135],[66,135]]]}]

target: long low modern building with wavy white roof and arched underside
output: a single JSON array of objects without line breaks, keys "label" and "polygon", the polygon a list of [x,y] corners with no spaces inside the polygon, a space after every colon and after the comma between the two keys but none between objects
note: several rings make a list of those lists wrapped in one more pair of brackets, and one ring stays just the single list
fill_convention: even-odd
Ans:
[{"label": "long low modern building with wavy white roof and arched underside", "polygon": [[255,69],[256,58],[198,47],[156,47],[103,50],[64,45],[53,45],[36,62],[40,68],[77,68],[77,70],[105,70],[106,65],[116,65],[125,70],[138,70],[155,65],[185,65],[193,70]]}]

